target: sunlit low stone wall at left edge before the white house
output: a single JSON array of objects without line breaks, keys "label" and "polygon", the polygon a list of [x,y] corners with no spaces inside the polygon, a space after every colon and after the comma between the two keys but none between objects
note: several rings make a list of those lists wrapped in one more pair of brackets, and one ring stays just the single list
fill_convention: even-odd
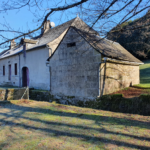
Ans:
[{"label": "sunlit low stone wall at left edge before the white house", "polygon": [[[18,100],[21,99],[25,92],[25,88],[21,89],[1,89],[0,90],[0,101],[5,101],[5,100]],[[26,92],[23,96],[24,99],[28,98],[28,93]]]}]

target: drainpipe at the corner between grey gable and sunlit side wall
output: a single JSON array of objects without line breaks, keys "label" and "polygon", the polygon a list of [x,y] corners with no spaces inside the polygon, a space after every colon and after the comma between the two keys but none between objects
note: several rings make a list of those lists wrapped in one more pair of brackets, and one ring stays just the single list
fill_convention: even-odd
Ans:
[{"label": "drainpipe at the corner between grey gable and sunlit side wall", "polygon": [[[105,86],[105,74],[106,74],[106,62],[107,62],[107,57],[104,57],[104,62],[101,62],[100,65],[99,65],[99,74],[98,74],[98,77],[99,77],[99,97],[101,97],[103,95],[103,90],[104,90],[104,86]],[[104,77],[103,77],[103,86],[102,86],[102,89],[101,89],[101,64],[102,63],[105,63],[104,65]]]}]

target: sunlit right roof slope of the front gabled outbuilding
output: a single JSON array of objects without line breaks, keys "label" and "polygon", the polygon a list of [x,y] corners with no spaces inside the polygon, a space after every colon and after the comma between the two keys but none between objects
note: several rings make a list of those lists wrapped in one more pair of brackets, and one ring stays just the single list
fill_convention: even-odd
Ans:
[{"label": "sunlit right roof slope of the front gabled outbuilding", "polygon": [[134,57],[130,52],[128,52],[119,43],[101,38],[97,35],[91,35],[89,32],[84,30],[74,28],[94,49],[99,51],[106,57],[113,59],[119,59],[123,61],[143,63],[136,57]]}]

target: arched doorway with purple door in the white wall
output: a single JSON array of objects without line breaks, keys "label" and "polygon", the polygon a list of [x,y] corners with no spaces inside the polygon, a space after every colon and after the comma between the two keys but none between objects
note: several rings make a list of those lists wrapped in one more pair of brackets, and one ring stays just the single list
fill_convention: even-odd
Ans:
[{"label": "arched doorway with purple door in the white wall", "polygon": [[29,69],[27,67],[22,68],[22,87],[29,86]]}]

